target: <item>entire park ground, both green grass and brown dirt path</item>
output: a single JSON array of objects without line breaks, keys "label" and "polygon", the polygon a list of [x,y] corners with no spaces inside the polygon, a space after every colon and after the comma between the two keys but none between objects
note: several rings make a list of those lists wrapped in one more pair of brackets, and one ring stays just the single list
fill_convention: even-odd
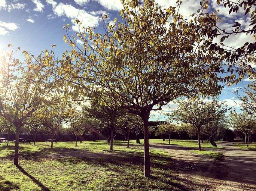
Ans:
[{"label": "entire park ground, both green grass and brown dirt path", "polygon": [[[256,190],[256,145],[221,142],[150,140],[151,177],[143,176],[143,144],[122,141],[109,150],[106,141],[20,144],[19,166],[14,144],[0,143],[0,190]],[[234,147],[236,146],[236,147]]]}]

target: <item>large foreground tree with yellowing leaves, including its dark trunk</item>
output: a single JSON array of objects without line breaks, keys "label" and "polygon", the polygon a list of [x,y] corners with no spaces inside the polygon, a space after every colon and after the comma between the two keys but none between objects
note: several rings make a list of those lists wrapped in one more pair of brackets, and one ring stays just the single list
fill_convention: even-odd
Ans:
[{"label": "large foreground tree with yellowing leaves, including its dark trunk", "polygon": [[66,80],[66,91],[74,96],[95,96],[110,108],[127,109],[141,117],[144,175],[150,176],[150,111],[161,110],[182,95],[219,94],[223,79],[218,73],[225,72],[223,50],[208,51],[217,19],[214,13],[204,15],[208,1],[189,21],[179,14],[179,5],[163,10],[154,0],[122,3],[121,22],[114,19],[115,24],[106,24],[103,16],[104,34],[81,28],[76,37],[64,36],[73,49],[63,54],[58,77]]}]

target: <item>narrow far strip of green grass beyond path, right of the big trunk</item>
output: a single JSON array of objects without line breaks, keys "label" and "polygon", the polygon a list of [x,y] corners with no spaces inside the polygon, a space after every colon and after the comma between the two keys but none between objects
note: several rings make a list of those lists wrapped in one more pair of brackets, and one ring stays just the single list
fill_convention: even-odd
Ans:
[{"label": "narrow far strip of green grass beyond path, right of the big trunk", "polygon": [[[163,141],[162,139],[150,139],[149,140],[149,144],[150,143],[160,143],[160,144],[169,144],[169,140],[165,139],[165,141]],[[171,140],[170,142],[171,145],[177,145],[177,146],[182,146],[182,147],[195,147],[198,148],[197,145],[197,141],[196,140]],[[206,141],[204,141],[204,143],[201,143],[201,147],[204,148],[222,148],[222,147],[214,147],[213,145],[211,145],[211,143],[207,143]]]}]

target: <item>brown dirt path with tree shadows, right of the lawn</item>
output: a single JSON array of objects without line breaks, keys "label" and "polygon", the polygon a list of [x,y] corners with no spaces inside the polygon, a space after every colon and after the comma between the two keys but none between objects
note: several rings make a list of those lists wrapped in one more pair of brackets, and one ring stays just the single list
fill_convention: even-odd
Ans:
[{"label": "brown dirt path with tree shadows, right of the lawn", "polygon": [[151,147],[171,153],[180,180],[188,190],[202,191],[256,191],[256,151],[219,143],[223,148],[203,150],[220,151],[221,160],[192,153],[189,147],[150,143]]}]

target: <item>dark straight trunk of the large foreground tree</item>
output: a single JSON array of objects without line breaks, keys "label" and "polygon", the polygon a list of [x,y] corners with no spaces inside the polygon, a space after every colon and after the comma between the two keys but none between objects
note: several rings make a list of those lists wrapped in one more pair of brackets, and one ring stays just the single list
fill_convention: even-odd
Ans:
[{"label": "dark straight trunk of the large foreground tree", "polygon": [[150,176],[150,156],[149,156],[149,113],[143,112],[144,122],[144,176]]}]

